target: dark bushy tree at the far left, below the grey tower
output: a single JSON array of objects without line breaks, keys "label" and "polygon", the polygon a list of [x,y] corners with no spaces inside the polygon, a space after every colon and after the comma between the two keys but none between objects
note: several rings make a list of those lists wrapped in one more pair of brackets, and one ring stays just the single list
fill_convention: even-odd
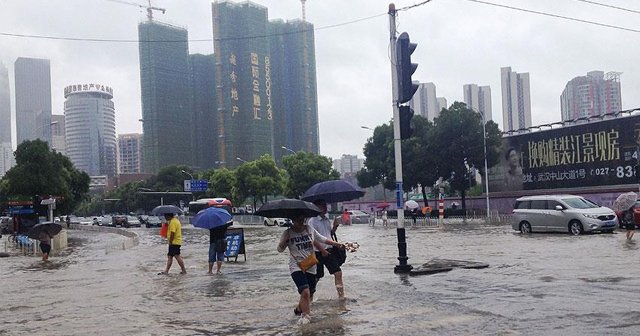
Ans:
[{"label": "dark bushy tree at the far left, below the grey tower", "polygon": [[66,156],[42,140],[25,141],[15,152],[16,165],[0,183],[4,200],[58,197],[58,212],[70,213],[89,191],[89,175],[74,168]]}]

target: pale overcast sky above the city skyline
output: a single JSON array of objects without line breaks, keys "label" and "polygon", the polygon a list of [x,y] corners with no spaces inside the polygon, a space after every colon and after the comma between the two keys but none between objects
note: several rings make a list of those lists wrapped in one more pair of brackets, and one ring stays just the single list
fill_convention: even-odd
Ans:
[{"label": "pale overcast sky above the city skyline", "polygon": [[[17,57],[51,60],[52,109],[63,114],[63,89],[102,83],[114,89],[117,133],[142,132],[140,70],[135,42],[87,42],[14,37],[135,41],[146,11],[120,0],[1,0],[0,62]],[[123,2],[144,4],[142,0]],[[269,19],[301,18],[300,1],[256,0]],[[423,0],[397,0],[396,8]],[[491,86],[493,120],[502,128],[500,68],[528,72],[534,125],[560,120],[566,83],[588,71],[622,72],[623,109],[640,107],[640,2],[637,0],[487,0],[503,6],[613,25],[628,30],[518,11],[471,0],[432,0],[400,11],[398,32],[418,44],[414,80],[433,82],[448,104],[462,101],[462,86]],[[622,7],[603,7],[589,2]],[[156,19],[189,31],[190,53],[213,53],[211,1],[154,0]],[[320,152],[362,157],[374,128],[391,108],[389,1],[308,0],[307,20],[316,28]],[[635,12],[634,12],[635,11]],[[629,31],[632,30],[632,31]],[[635,30],[635,31],[633,31]],[[206,41],[193,41],[206,40]],[[13,106],[12,101],[12,106]],[[15,109],[14,109],[15,113]],[[15,120],[15,119],[14,119]],[[14,121],[15,123],[15,121]],[[15,128],[14,128],[15,132]],[[13,134],[15,139],[15,133]],[[14,144],[15,147],[15,144]]]}]

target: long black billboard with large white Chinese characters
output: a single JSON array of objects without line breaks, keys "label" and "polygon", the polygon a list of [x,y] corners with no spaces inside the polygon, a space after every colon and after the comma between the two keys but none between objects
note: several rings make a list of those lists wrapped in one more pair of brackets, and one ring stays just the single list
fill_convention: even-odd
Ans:
[{"label": "long black billboard with large white Chinese characters", "polygon": [[505,136],[495,192],[635,184],[640,115]]}]

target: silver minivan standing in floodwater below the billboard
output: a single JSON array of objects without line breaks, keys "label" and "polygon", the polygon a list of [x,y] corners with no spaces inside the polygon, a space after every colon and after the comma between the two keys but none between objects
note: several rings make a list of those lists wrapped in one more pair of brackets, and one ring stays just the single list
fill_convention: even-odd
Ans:
[{"label": "silver minivan standing in floodwater below the billboard", "polygon": [[522,233],[613,232],[618,218],[613,210],[601,207],[581,196],[540,195],[516,200],[511,227]]}]

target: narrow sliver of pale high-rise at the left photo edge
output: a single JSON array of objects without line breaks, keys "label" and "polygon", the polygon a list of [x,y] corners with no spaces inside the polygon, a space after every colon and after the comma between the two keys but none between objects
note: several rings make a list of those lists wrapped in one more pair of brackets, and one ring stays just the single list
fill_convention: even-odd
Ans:
[{"label": "narrow sliver of pale high-rise at the left photo edge", "polygon": [[13,167],[13,146],[11,145],[11,90],[9,72],[0,62],[0,177]]}]

